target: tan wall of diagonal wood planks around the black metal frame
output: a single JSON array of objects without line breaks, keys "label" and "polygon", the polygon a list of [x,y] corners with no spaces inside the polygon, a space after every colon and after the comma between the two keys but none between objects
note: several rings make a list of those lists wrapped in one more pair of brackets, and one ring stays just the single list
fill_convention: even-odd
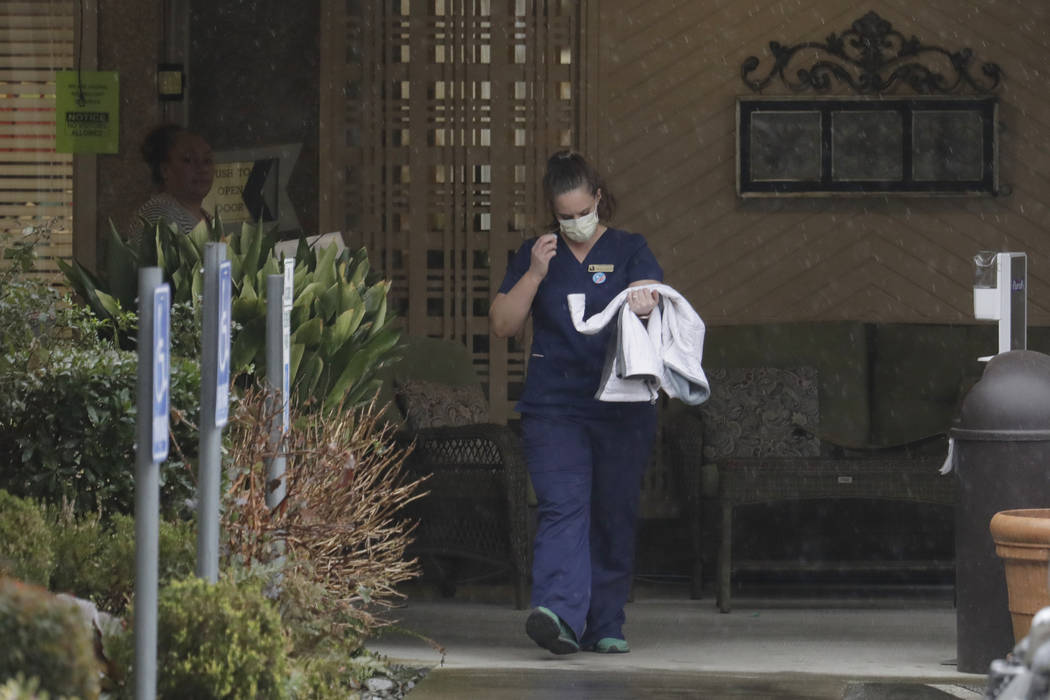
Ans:
[{"label": "tan wall of diagonal wood planks around the black metal frame", "polygon": [[[749,56],[823,41],[869,9],[906,36],[999,63],[1008,195],[742,200],[735,104]],[[601,0],[586,140],[620,199],[709,324],[972,322],[973,254],[1029,255],[1032,324],[1050,324],[1050,5],[1027,0]],[[596,39],[595,39],[595,34]],[[764,75],[764,73],[763,73]],[[788,94],[772,85],[766,96]],[[906,92],[905,92],[906,93]]]}]

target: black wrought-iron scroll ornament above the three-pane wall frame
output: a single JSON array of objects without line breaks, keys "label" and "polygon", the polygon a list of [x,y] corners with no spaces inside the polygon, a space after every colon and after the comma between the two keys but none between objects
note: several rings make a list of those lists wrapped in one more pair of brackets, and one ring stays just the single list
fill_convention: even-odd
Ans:
[{"label": "black wrought-iron scroll ornament above the three-pane wall frame", "polygon": [[[793,81],[785,71],[795,55],[804,49],[816,49],[827,58],[799,68],[796,73],[798,80]],[[825,92],[832,88],[833,81],[848,85],[858,94],[882,94],[898,83],[909,85],[920,94],[951,94],[964,92],[966,88],[975,92],[991,92],[999,87],[1003,77],[999,64],[983,63],[983,78],[975,78],[971,72],[971,49],[949,51],[940,46],[926,46],[915,36],[905,38],[874,12],[855,21],[842,34],[828,35],[822,44],[804,42],[783,46],[771,41],[770,51],[774,64],[764,78],[751,78],[760,63],[757,57],[749,57],[740,67],[740,77],[755,92],[760,92],[775,77],[796,92],[811,89]],[[946,58],[950,64],[951,71],[947,75],[922,63],[926,57],[938,56]]]}]

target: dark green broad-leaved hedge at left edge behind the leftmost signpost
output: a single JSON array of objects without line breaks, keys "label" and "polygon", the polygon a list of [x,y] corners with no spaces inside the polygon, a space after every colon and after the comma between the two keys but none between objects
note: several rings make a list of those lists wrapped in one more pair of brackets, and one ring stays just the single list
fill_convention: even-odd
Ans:
[{"label": "dark green broad-leaved hedge at left edge behind the leftmost signpost", "polygon": [[[0,488],[48,503],[75,502],[84,511],[129,513],[134,505],[134,353],[105,346],[26,349],[0,366]],[[173,358],[171,405],[188,421],[172,421],[174,442],[195,458],[201,375]],[[178,449],[161,466],[166,510],[183,507],[193,478]]]}]

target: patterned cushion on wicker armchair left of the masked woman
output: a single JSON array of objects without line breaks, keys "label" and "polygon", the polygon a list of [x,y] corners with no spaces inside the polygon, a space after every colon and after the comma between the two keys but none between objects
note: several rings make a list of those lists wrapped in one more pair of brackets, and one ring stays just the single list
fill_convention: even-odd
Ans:
[{"label": "patterned cushion on wicker armchair left of the masked woman", "polygon": [[485,397],[476,384],[455,385],[406,379],[395,381],[395,391],[405,427],[412,432],[488,420]]}]

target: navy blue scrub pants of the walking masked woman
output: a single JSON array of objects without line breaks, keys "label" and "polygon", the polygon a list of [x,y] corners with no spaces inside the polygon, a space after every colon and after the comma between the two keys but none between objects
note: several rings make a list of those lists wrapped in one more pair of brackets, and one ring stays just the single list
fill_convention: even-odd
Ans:
[{"label": "navy blue scrub pants of the walking masked woman", "polygon": [[583,646],[624,638],[642,475],[656,409],[615,418],[522,416],[525,460],[539,502],[532,607],[561,617]]}]

